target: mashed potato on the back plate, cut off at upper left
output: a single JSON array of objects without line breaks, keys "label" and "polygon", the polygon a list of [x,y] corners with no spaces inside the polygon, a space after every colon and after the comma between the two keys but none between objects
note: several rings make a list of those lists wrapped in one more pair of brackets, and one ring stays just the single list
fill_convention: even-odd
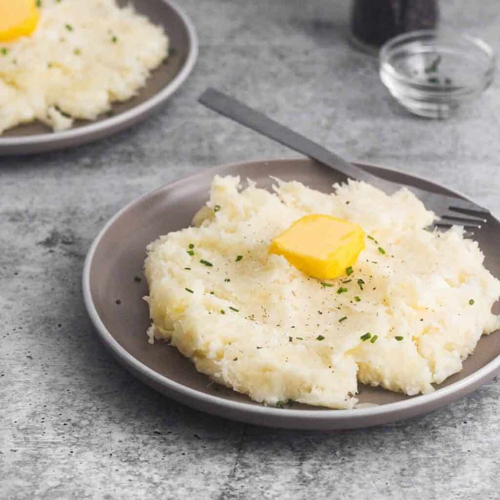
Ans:
[{"label": "mashed potato on the back plate, cut off at upper left", "polygon": [[115,0],[42,0],[35,31],[0,42],[0,133],[36,119],[54,130],[132,97],[166,57],[160,27]]}]

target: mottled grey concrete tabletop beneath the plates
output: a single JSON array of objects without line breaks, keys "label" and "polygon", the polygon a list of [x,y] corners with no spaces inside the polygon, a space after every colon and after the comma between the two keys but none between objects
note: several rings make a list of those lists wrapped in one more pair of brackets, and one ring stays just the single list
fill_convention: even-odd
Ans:
[{"label": "mottled grey concrete tabletop beneath the plates", "polygon": [[[500,383],[379,428],[258,428],[145,387],[94,335],[80,289],[105,220],[211,165],[294,153],[195,103],[213,85],[350,158],[500,212],[498,78],[448,121],[406,114],[346,44],[341,0],[184,0],[194,73],[155,117],[71,151],[0,159],[0,498],[498,498]],[[442,2],[500,50],[496,0]]]}]

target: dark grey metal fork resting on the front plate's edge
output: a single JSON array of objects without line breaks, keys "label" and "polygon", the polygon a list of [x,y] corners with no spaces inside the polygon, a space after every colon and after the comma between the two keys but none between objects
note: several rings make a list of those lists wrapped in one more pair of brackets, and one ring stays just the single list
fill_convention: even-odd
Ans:
[{"label": "dark grey metal fork resting on the front plate's edge", "polygon": [[[361,168],[349,163],[340,156],[328,151],[320,144],[290,130],[289,128],[271,120],[264,114],[256,111],[219,92],[213,88],[207,88],[198,98],[198,101],[205,106],[217,111],[218,113],[231,118],[242,125],[255,130],[281,144],[294,149],[310,158],[313,158],[333,170],[336,170],[346,177],[364,180],[371,185],[378,187],[387,194],[399,189],[402,185],[377,177],[376,175],[362,170]],[[447,196],[430,192],[425,189],[419,189],[414,186],[405,185],[410,189],[425,205],[432,210],[439,220],[435,222],[436,226],[451,226],[453,224],[462,225],[467,229],[478,229],[487,221],[489,211],[463,198]]]}]

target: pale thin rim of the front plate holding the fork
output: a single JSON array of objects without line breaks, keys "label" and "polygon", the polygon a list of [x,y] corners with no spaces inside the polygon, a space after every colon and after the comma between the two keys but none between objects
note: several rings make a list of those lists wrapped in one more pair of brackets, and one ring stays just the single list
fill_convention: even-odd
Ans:
[{"label": "pale thin rim of the front plate holding the fork", "polygon": [[[362,408],[352,408],[352,409],[333,409],[333,408],[324,408],[324,407],[318,407],[318,409],[293,409],[293,408],[277,408],[274,406],[267,406],[264,404],[260,405],[250,405],[246,402],[240,402],[240,401],[233,401],[230,399],[225,399],[222,397],[218,397],[216,395],[211,395],[207,394],[204,392],[200,392],[196,389],[192,389],[190,387],[187,387],[183,385],[180,382],[176,382],[174,380],[171,380],[170,378],[166,377],[165,375],[162,375],[161,373],[158,373],[157,371],[154,371],[152,368],[149,366],[145,365],[141,361],[139,361],[137,358],[135,358],[132,354],[130,354],[124,347],[122,347],[118,341],[111,335],[109,330],[106,328],[104,323],[99,317],[99,314],[97,313],[97,310],[95,308],[95,305],[92,300],[92,295],[90,291],[90,269],[92,266],[92,260],[93,256],[95,253],[95,250],[97,248],[97,245],[99,244],[101,238],[103,235],[106,233],[108,228],[121,216],[123,212],[131,208],[133,205],[140,203],[143,199],[154,195],[156,192],[163,190],[165,188],[175,188],[176,184],[185,182],[187,179],[192,179],[193,181],[196,180],[198,176],[205,176],[207,171],[213,171],[214,174],[216,174],[219,170],[225,170],[227,168],[237,168],[238,166],[243,166],[248,163],[257,163],[257,162],[275,162],[275,161],[294,161],[294,160],[306,160],[310,159],[307,157],[303,156],[294,156],[294,157],[274,157],[274,158],[265,158],[265,159],[248,159],[245,161],[238,161],[238,162],[232,162],[232,163],[224,163],[221,165],[216,165],[207,169],[202,169],[198,172],[191,173],[188,175],[184,175],[178,179],[173,180],[172,182],[168,182],[162,186],[159,186],[155,189],[152,189],[151,191],[148,191],[141,196],[138,196],[137,198],[131,200],[128,202],[123,208],[118,210],[111,218],[108,219],[108,221],[104,224],[104,226],[101,228],[101,230],[97,233],[95,238],[93,239],[87,254],[85,256],[85,261],[83,265],[83,271],[82,271],[82,293],[83,293],[83,300],[85,304],[85,308],[87,310],[87,313],[90,317],[90,320],[93,324],[93,327],[95,331],[97,332],[98,336],[100,337],[101,341],[104,343],[106,347],[108,347],[112,354],[126,367],[130,367],[132,370],[137,371],[140,373],[142,376],[144,376],[146,379],[150,380],[154,386],[160,385],[162,387],[168,388],[168,395],[172,397],[173,399],[177,399],[175,395],[178,395],[181,398],[181,403],[186,404],[188,406],[201,409],[200,406],[203,405],[205,409],[202,409],[204,411],[209,410],[206,409],[206,405],[210,407],[215,407],[218,411],[213,411],[214,414],[218,414],[221,416],[225,416],[227,412],[233,412],[233,414],[248,414],[251,418],[252,415],[255,417],[262,417],[262,416],[272,416],[272,417],[277,417],[279,416],[280,420],[282,420],[282,426],[286,427],[293,427],[294,422],[297,420],[307,420],[310,422],[324,422],[329,421],[331,423],[333,422],[338,422],[340,423],[341,421],[344,420],[351,420],[352,424],[351,425],[345,425],[344,427],[324,427],[324,425],[318,425],[317,427],[307,427],[307,428],[347,428],[347,427],[368,427],[370,425],[376,425],[378,423],[385,423],[385,420],[381,420],[380,422],[377,422],[376,420],[371,423],[371,424],[363,424],[362,421],[366,420],[369,417],[382,417],[390,415],[393,412],[399,412],[401,411],[403,414],[401,418],[406,418],[411,416],[411,410],[423,406],[427,407],[424,409],[422,413],[426,413],[428,411],[431,411],[432,409],[435,409],[440,406],[439,401],[444,401],[443,405],[446,404],[449,400],[449,397],[453,396],[453,394],[457,393],[457,398],[460,396],[465,396],[468,392],[474,390],[480,382],[486,382],[488,380],[488,377],[492,378],[494,376],[494,372],[500,368],[500,354],[495,356],[491,361],[486,363],[484,366],[480,367],[479,369],[475,370],[473,373],[470,373],[464,378],[461,378],[460,380],[457,380],[456,382],[453,382],[449,385],[446,385],[442,388],[439,388],[437,390],[434,390],[432,392],[428,392],[426,394],[419,394],[415,395],[411,398],[408,399],[403,399],[401,401],[394,401],[391,403],[385,403],[385,404],[379,404],[379,405],[374,405],[374,406],[368,406],[368,407],[362,407]],[[369,167],[374,167],[377,169],[381,170],[387,170],[387,171],[393,171],[397,173],[401,173],[400,170],[393,168],[393,167],[386,167],[382,166],[380,164],[375,164],[375,163],[368,163],[368,162],[361,162],[361,161],[353,161],[353,163],[356,163],[358,165],[362,166],[369,166]],[[406,173],[406,172],[404,172]],[[427,181],[432,184],[436,184],[434,181],[427,179],[424,176],[421,175],[416,175],[412,173],[408,173],[411,177],[414,177],[419,180]],[[461,193],[459,190],[452,189],[450,187],[445,187],[447,190],[450,192],[456,194],[459,197],[462,197],[464,199],[467,199],[471,201],[471,198],[468,197],[467,195]],[[495,219],[496,217],[492,215]],[[193,367],[193,369],[195,369]],[[144,381],[144,380],[141,380]],[[469,390],[467,390],[469,389]],[[157,390],[157,389],[156,389]],[[175,394],[175,395],[173,395]],[[200,404],[189,404],[189,402],[186,402],[186,400],[194,400],[196,402],[199,402]],[[449,400],[451,402],[451,400]],[[432,403],[435,403],[433,405]],[[225,410],[225,411],[224,411]],[[227,417],[227,416],[226,416]],[[227,417],[231,418],[231,417]],[[237,418],[235,417],[234,419],[242,420],[242,418]],[[395,418],[394,420],[398,420],[398,418]],[[356,425],[356,422],[358,425]],[[259,422],[254,422],[254,423],[259,423]],[[262,424],[262,423],[260,423]],[[268,424],[269,426],[275,426],[277,427],[278,425],[273,424],[270,422]],[[306,427],[304,427],[306,428]]]}]

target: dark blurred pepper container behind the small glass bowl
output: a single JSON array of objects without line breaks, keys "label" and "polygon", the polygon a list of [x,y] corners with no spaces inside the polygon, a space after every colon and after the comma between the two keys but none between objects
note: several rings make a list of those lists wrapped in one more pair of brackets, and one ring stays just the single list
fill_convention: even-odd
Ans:
[{"label": "dark blurred pepper container behind the small glass bowl", "polygon": [[416,29],[434,29],[437,0],[353,0],[351,36],[354,45],[376,53],[393,36]]}]

